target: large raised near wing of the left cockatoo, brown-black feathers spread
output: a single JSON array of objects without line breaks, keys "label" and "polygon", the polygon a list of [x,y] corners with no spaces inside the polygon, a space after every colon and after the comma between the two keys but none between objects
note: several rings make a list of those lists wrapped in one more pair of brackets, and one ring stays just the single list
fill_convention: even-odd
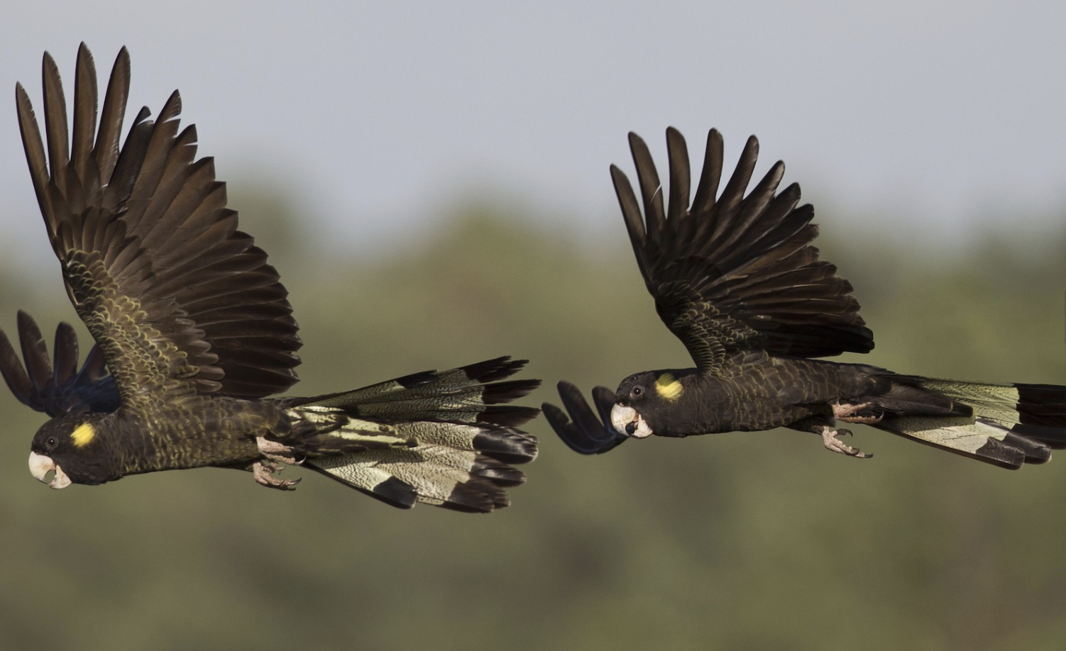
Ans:
[{"label": "large raised near wing of the left cockatoo, brown-black feathers spread", "polygon": [[67,293],[96,339],[124,404],[158,392],[261,397],[296,381],[301,341],[266,254],[237,230],[195,127],[178,132],[175,92],[125,143],[130,66],[118,53],[97,130],[97,84],[82,44],[72,133],[59,69],[44,59],[46,146],[16,87],[30,175]]}]

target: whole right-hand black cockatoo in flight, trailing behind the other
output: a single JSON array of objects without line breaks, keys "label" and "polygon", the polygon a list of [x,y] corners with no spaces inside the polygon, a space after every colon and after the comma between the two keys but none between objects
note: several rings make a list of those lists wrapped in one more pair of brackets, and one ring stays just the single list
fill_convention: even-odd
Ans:
[{"label": "whole right-hand black cockatoo in flight, trailing behind the other", "polygon": [[559,383],[569,418],[543,407],[571,449],[600,454],[627,438],[789,427],[820,435],[834,452],[871,456],[841,441],[850,432],[836,421],[1003,468],[1041,463],[1051,449],[1066,447],[1066,387],[934,379],[812,359],[867,353],[873,333],[851,283],[811,246],[814,211],[796,207],[800,186],[777,193],[785,165],[776,163],[744,196],[758,156],[754,136],[718,194],[723,144],[710,132],[691,205],[689,153],[676,129],[666,131],[668,202],[644,141],[631,133],[629,144],[644,214],[612,165],[626,228],[656,311],[696,368],[636,373],[614,392],[597,387],[596,411],[577,387]]}]

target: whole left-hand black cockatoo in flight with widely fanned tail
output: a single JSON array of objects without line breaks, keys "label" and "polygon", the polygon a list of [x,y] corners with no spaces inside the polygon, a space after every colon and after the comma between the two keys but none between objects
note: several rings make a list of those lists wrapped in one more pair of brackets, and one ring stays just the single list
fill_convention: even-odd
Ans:
[{"label": "whole left-hand black cockatoo in flight with widely fanned tail", "polygon": [[[54,363],[18,315],[22,359],[0,332],[0,371],[22,403],[52,417],[33,437],[30,470],[52,488],[158,470],[222,467],[290,488],[302,463],[393,506],[465,511],[508,504],[536,439],[532,407],[506,403],[539,380],[507,379],[507,357],[407,375],[317,397],[275,397],[296,383],[301,346],[288,293],[266,254],[237,230],[196,130],[179,132],[175,92],[147,109],[119,147],[130,64],[118,53],[97,114],[93,58],[75,74],[72,133],[59,69],[44,58],[44,131],[16,87],[30,176],[67,295],[96,345],[78,370],[60,324]],[[97,118],[99,117],[99,128]]]}]

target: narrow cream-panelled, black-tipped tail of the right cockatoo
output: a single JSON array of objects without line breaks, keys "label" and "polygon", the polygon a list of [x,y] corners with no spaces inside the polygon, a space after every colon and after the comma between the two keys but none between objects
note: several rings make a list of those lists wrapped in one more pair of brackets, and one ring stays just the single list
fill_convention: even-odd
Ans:
[{"label": "narrow cream-panelled, black-tipped tail of the right cockatoo", "polygon": [[1010,469],[1044,463],[1051,450],[1066,449],[1066,387],[915,379],[968,405],[972,416],[887,414],[875,427]]}]

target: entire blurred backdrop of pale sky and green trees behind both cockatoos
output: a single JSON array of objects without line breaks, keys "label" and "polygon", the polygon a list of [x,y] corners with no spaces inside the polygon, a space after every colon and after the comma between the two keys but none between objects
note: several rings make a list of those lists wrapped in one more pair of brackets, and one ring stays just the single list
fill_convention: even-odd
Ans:
[{"label": "entire blurred backdrop of pale sky and green trees behind both cockatoos", "polygon": [[[14,3],[9,3],[14,4]],[[607,174],[626,132],[732,164],[757,133],[898,371],[1066,384],[1066,9],[888,1],[0,10],[0,85],[41,104],[78,43],[131,104],[179,87],[281,272],[298,393],[501,354],[554,401],[687,365]],[[723,3],[724,4],[724,3]],[[0,327],[75,319],[0,110]],[[542,456],[487,517],[214,469],[51,491],[43,414],[0,391],[0,648],[996,649],[1066,641],[1066,455],[1007,472],[855,427]],[[850,441],[852,442],[852,441]],[[291,472],[291,471],[288,471]],[[308,475],[309,473],[296,474]]]}]

